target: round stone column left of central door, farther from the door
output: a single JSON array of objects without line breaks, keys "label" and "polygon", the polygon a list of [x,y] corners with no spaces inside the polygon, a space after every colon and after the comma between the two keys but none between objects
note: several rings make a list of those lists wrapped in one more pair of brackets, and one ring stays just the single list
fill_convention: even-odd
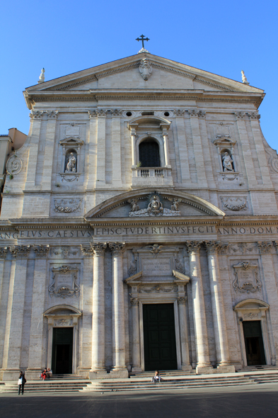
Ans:
[{"label": "round stone column left of central door, farther from the door", "polygon": [[93,326],[92,368],[90,378],[100,378],[105,373],[105,300],[104,252],[107,244],[91,244],[93,249]]}]

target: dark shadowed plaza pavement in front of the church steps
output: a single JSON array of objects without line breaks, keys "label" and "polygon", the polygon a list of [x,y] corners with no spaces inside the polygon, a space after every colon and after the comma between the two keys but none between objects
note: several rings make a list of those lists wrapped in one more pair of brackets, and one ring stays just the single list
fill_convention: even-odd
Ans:
[{"label": "dark shadowed plaza pavement in front of the church steps", "polygon": [[165,392],[82,392],[69,395],[0,395],[1,418],[272,418],[277,384]]}]

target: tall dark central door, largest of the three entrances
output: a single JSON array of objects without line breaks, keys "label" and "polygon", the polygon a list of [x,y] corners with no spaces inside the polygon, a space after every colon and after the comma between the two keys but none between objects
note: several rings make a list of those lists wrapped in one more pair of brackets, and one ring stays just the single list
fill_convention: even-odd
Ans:
[{"label": "tall dark central door, largest of the three entrances", "polygon": [[173,303],[143,305],[145,370],[175,370]]}]

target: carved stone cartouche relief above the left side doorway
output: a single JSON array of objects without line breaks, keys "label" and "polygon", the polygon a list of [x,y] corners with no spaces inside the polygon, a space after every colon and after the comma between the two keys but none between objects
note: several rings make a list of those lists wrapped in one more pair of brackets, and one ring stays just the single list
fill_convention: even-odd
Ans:
[{"label": "carved stone cartouche relief above the left side doorway", "polygon": [[52,283],[48,288],[51,298],[53,295],[63,299],[79,296],[78,269],[75,266],[52,267],[52,274]]}]

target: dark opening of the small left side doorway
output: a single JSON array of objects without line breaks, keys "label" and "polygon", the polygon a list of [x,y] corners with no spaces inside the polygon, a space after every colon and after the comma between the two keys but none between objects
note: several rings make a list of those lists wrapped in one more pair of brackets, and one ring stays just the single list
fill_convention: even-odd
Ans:
[{"label": "dark opening of the small left side doorway", "polygon": [[72,373],[73,328],[53,328],[52,371]]}]

